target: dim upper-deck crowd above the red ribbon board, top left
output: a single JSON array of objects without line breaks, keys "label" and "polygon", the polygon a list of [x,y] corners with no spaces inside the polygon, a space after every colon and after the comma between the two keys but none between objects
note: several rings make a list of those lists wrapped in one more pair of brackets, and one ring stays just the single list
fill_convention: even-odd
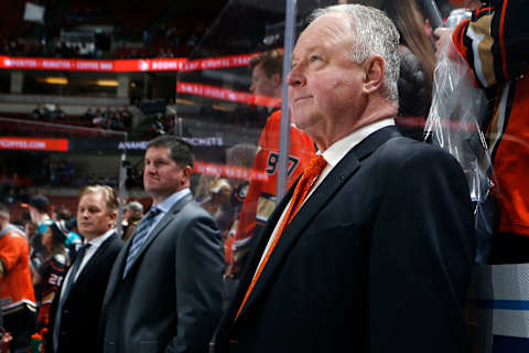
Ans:
[{"label": "dim upper-deck crowd above the red ribbon board, top left", "polygon": [[[116,6],[94,6],[65,11],[54,1],[40,1],[45,7],[45,18],[41,22],[24,21],[15,31],[0,26],[0,55],[83,57],[83,58],[148,58],[185,57],[207,32],[204,19],[185,24],[174,23],[169,14],[160,18],[137,17],[116,20],[122,11]],[[22,9],[7,8],[11,15],[21,17]],[[110,25],[110,32],[96,32],[79,29],[84,24],[100,23]],[[128,23],[134,23],[133,25]],[[83,40],[69,41],[63,32],[80,33]],[[91,34],[88,40],[87,34]],[[111,44],[111,42],[115,42]]]}]

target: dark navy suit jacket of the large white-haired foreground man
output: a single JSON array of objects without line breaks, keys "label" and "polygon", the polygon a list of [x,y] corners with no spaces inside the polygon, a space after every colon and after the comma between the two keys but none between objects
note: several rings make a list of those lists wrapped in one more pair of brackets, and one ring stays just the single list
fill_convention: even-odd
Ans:
[{"label": "dark navy suit jacket of the large white-haired foreground man", "polygon": [[291,195],[257,238],[215,352],[467,351],[475,239],[455,159],[395,127],[370,135],[285,228],[235,321]]}]

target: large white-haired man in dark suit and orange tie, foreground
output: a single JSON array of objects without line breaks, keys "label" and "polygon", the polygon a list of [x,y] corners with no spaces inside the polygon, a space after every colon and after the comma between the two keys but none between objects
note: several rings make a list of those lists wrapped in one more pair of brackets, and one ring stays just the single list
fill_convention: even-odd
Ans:
[{"label": "large white-haired man in dark suit and orange tie, foreground", "polygon": [[215,352],[467,352],[468,188],[454,158],[397,132],[398,45],[391,21],[357,4],[301,33],[290,107],[323,170],[256,239]]}]

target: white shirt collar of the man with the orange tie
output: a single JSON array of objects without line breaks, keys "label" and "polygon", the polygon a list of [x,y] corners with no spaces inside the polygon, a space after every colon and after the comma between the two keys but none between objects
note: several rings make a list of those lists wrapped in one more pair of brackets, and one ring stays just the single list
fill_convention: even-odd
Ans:
[{"label": "white shirt collar of the man with the orange tie", "polygon": [[380,130],[381,128],[392,125],[395,125],[395,119],[392,117],[371,122],[359,128],[356,131],[353,131],[343,139],[337,140],[336,142],[331,145],[325,151],[319,153],[321,153],[323,158],[325,158],[325,160],[331,167],[335,167],[342,160],[342,158],[347,154],[348,151],[350,151],[355,146],[360,143],[366,137],[377,130]]}]

